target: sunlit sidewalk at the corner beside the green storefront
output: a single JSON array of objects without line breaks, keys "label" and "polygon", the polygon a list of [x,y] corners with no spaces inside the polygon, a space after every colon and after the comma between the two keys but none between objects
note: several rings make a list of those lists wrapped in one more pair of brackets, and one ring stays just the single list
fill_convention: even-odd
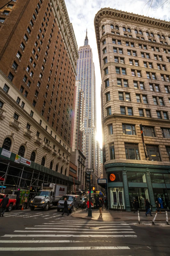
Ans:
[{"label": "sunlit sidewalk at the corner beside the green storefront", "polygon": [[[154,216],[155,216],[155,212],[152,212],[152,216],[150,216],[150,214],[148,214],[148,217],[146,217],[145,212],[140,212],[139,216],[140,216],[140,220],[143,221],[152,221]],[[76,218],[83,218],[83,219],[92,219],[92,220],[98,220],[98,221],[126,221],[126,220],[133,220],[133,221],[138,221],[138,214],[134,213],[134,212],[115,212],[115,211],[109,211],[106,210],[105,208],[103,208],[102,211],[102,216],[100,216],[99,210],[93,209],[92,210],[92,217],[88,217],[88,212],[84,211],[80,211],[78,213],[73,213],[72,214],[73,217]],[[168,219],[170,221],[170,213],[168,212]],[[166,215],[165,212],[163,213],[158,213],[156,216],[156,221],[164,221],[166,223]]]}]

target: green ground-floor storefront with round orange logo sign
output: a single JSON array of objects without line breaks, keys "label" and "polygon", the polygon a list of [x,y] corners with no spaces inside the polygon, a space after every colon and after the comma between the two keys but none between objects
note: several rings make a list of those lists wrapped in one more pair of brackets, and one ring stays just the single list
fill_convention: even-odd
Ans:
[{"label": "green ground-floor storefront with round orange logo sign", "polygon": [[145,199],[156,210],[155,200],[162,199],[162,210],[170,210],[170,165],[109,163],[105,164],[109,209],[145,211]]}]

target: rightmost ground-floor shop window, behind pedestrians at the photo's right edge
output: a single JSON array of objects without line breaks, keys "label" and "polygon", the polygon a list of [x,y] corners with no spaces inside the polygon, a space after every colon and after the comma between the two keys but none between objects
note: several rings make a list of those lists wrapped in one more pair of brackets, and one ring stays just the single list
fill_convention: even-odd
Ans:
[{"label": "rightmost ground-floor shop window, behind pedestrians at the photo's right edge", "polygon": [[170,209],[170,189],[153,188],[153,193],[154,193],[155,201],[158,200],[158,197],[162,198],[162,201],[163,201],[162,209]]}]

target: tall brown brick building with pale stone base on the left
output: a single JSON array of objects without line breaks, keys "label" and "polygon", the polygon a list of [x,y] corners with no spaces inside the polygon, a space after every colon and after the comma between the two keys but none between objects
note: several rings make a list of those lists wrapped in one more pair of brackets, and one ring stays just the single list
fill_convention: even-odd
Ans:
[{"label": "tall brown brick building with pale stone base on the left", "polygon": [[0,10],[0,147],[69,182],[77,59],[63,0],[13,0]]}]

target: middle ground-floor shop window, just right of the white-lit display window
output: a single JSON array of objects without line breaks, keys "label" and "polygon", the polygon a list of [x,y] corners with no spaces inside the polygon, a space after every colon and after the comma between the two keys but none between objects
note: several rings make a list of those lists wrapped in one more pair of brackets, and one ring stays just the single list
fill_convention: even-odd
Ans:
[{"label": "middle ground-floor shop window, just right of the white-lit display window", "polygon": [[129,199],[131,209],[134,209],[134,199],[138,202],[138,208],[141,210],[145,209],[145,199],[149,199],[148,188],[129,188]]}]

